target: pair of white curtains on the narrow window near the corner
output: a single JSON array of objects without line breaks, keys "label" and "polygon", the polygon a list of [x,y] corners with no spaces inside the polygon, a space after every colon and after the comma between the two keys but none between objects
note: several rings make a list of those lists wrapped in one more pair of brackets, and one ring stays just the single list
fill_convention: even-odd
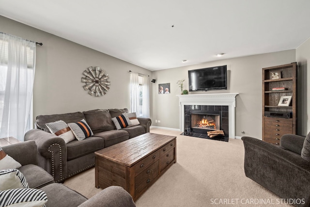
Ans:
[{"label": "pair of white curtains on the narrow window near the corner", "polygon": [[146,75],[130,72],[130,111],[150,117],[150,85]]}]

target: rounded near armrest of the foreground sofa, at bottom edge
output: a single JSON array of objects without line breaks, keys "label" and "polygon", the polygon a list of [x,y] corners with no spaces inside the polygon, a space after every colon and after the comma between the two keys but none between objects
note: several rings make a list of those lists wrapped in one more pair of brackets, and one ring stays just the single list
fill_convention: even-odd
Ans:
[{"label": "rounded near armrest of the foreground sofa, at bottom edge", "polygon": [[120,186],[100,191],[78,207],[136,207],[131,195]]}]

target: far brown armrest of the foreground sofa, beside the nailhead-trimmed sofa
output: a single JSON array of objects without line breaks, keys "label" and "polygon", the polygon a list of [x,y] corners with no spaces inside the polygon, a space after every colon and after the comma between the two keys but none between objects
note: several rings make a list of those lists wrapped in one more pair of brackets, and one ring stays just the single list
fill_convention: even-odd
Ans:
[{"label": "far brown armrest of the foreground sofa, beside the nailhead-trimmed sofa", "polygon": [[38,165],[37,146],[34,141],[11,144],[2,147],[4,152],[19,162],[22,166]]}]

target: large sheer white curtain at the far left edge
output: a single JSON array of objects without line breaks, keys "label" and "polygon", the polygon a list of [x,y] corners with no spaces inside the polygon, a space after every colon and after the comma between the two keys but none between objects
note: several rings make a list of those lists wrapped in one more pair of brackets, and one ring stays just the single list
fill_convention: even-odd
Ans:
[{"label": "large sheer white curtain at the far left edge", "polygon": [[32,128],[35,42],[0,33],[0,138],[24,141]]}]

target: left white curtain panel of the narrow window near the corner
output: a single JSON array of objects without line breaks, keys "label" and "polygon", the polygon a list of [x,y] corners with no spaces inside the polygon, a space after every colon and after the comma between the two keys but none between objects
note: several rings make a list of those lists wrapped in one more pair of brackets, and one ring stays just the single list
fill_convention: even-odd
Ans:
[{"label": "left white curtain panel of the narrow window near the corner", "polygon": [[137,116],[140,116],[139,103],[139,74],[130,72],[130,111],[136,112]]}]

